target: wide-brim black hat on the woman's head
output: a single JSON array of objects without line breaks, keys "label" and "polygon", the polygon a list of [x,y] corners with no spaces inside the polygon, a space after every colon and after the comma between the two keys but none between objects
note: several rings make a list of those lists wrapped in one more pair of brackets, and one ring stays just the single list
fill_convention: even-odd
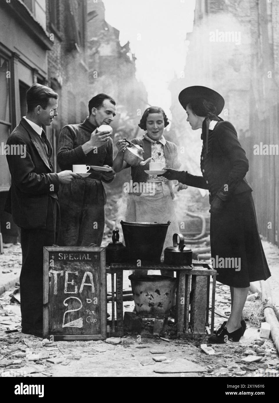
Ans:
[{"label": "wide-brim black hat on the woman's head", "polygon": [[191,103],[191,101],[200,98],[214,104],[217,116],[222,112],[225,104],[224,98],[211,88],[193,85],[193,87],[183,89],[178,96],[178,100],[185,110],[186,106]]}]

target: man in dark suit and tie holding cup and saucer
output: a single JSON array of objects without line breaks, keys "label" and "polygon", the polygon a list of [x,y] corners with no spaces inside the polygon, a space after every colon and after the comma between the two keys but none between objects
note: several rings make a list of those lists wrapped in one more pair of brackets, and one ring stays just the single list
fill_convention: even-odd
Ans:
[{"label": "man in dark suit and tie holding cup and saucer", "polygon": [[5,210],[21,229],[20,274],[22,332],[42,336],[43,247],[56,243],[59,231],[59,184],[77,175],[53,172],[52,147],[42,126],[57,116],[58,94],[40,84],[26,93],[27,114],[15,127],[7,145],[24,154],[6,155],[11,187]]}]

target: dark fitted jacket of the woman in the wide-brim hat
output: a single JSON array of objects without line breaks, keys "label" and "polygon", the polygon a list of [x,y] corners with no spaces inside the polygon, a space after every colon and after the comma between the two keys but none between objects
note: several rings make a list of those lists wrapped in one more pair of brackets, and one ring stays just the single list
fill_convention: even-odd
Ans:
[{"label": "dark fitted jacket of the woman in the wide-brim hat", "polygon": [[245,178],[249,162],[245,151],[237,139],[237,132],[227,121],[218,122],[214,130],[209,131],[208,153],[206,153],[206,135],[202,135],[203,148],[201,152],[202,177],[188,172],[179,172],[178,181],[189,186],[208,189],[210,203],[218,193],[224,190],[226,199],[234,194],[252,191]]}]

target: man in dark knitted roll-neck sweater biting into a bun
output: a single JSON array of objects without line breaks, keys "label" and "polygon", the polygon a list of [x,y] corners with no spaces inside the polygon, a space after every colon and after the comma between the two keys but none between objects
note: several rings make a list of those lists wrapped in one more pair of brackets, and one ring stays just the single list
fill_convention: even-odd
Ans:
[{"label": "man in dark knitted roll-neck sweater biting into a bun", "polygon": [[[110,125],[115,116],[115,101],[98,94],[88,104],[89,116],[79,125],[67,125],[58,141],[57,162],[61,169],[85,164],[111,167],[113,142],[110,131],[97,132],[101,125]],[[67,168],[65,168],[67,167]],[[105,227],[107,201],[102,181],[110,183],[115,172],[93,171],[86,178],[75,179],[59,189],[61,227],[59,245],[101,246]]]}]

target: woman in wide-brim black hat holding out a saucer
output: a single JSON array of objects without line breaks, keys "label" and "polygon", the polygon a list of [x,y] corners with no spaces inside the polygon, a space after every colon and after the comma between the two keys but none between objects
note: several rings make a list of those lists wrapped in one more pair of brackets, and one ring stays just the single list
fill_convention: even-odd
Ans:
[{"label": "woman in wide-brim black hat holding out a saucer", "polygon": [[218,271],[217,280],[230,286],[232,301],[228,321],[210,342],[239,341],[246,328],[242,311],[250,282],[271,276],[258,233],[252,188],[245,179],[249,162],[233,125],[218,117],[224,107],[220,94],[207,87],[188,87],[180,92],[179,102],[191,128],[202,129],[202,176],[173,169],[167,169],[164,176],[210,192],[212,265]]}]

